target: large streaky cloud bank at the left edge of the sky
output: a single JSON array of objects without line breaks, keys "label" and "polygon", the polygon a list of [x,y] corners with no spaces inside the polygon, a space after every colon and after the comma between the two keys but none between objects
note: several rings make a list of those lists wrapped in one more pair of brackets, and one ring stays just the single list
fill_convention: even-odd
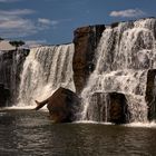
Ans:
[{"label": "large streaky cloud bank at the left edge of the sky", "polygon": [[0,36],[3,38],[26,37],[37,32],[35,22],[23,16],[33,13],[33,10],[0,10]]}]

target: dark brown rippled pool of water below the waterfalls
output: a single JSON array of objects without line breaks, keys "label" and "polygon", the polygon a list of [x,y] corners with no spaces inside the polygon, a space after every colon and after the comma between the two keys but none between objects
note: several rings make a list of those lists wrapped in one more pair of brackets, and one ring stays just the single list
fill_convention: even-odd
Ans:
[{"label": "dark brown rippled pool of water below the waterfalls", "polygon": [[0,110],[0,156],[155,156],[156,128],[52,124],[46,111]]}]

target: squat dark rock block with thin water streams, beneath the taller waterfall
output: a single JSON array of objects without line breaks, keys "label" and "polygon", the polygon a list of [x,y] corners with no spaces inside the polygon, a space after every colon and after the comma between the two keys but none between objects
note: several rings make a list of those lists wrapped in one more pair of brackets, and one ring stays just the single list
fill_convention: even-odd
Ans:
[{"label": "squat dark rock block with thin water streams, beneath the taller waterfall", "polygon": [[95,121],[126,124],[129,121],[128,104],[124,94],[95,92],[87,118]]}]

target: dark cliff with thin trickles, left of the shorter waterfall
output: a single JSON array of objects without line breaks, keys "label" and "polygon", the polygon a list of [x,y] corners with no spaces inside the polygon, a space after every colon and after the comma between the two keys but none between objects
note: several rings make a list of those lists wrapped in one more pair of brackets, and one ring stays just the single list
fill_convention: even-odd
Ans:
[{"label": "dark cliff with thin trickles, left of the shorter waterfall", "polygon": [[0,94],[9,92],[0,97],[1,106],[11,106],[16,101],[22,64],[28,53],[26,49],[0,51]]}]

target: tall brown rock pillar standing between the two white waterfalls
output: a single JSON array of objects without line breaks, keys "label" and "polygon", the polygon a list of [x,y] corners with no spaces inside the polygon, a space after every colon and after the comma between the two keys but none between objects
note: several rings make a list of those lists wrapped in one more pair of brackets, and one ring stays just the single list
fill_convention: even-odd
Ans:
[{"label": "tall brown rock pillar standing between the two white waterfalls", "polygon": [[89,75],[95,69],[95,52],[103,31],[104,25],[82,27],[75,30],[75,55],[72,60],[74,81],[76,91],[80,94]]}]

